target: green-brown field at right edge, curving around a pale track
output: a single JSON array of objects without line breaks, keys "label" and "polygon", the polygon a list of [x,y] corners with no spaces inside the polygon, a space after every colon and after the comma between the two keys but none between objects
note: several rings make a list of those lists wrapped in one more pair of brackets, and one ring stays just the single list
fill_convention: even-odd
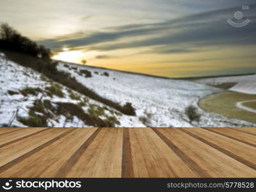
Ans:
[{"label": "green-brown field at right edge, curving around a pale track", "polygon": [[[206,111],[219,113],[229,118],[245,120],[247,122],[256,123],[256,113],[245,111],[236,107],[237,102],[244,100],[254,100],[256,95],[238,92],[224,92],[209,95],[199,101],[199,106]],[[244,106],[256,108],[256,102],[245,103]]]}]

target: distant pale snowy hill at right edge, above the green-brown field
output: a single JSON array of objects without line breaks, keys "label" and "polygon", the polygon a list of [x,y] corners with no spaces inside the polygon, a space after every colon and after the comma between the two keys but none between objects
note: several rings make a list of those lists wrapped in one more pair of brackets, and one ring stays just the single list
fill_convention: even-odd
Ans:
[{"label": "distant pale snowy hill at right edge, above the green-brown field", "polygon": [[256,74],[249,76],[214,77],[195,80],[202,84],[234,83],[229,90],[234,92],[256,94]]}]

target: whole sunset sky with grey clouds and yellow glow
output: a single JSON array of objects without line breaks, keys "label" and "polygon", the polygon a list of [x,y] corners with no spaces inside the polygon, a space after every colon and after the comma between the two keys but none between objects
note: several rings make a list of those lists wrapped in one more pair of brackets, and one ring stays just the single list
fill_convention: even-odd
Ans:
[{"label": "whole sunset sky with grey clouds and yellow glow", "polygon": [[56,60],[168,77],[256,72],[255,0],[1,0],[0,22]]}]

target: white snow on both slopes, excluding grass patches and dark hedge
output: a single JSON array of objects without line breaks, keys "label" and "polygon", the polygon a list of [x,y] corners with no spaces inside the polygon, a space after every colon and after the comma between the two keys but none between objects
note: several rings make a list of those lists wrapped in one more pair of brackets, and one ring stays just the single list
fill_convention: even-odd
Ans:
[{"label": "white snow on both slopes, excluding grass patches and dark hedge", "polygon": [[[70,68],[77,67],[92,72],[92,77],[86,78],[79,75],[79,72]],[[230,119],[216,113],[209,113],[198,107],[198,100],[212,93],[222,92],[218,88],[197,84],[190,81],[181,81],[174,79],[164,79],[159,77],[143,76],[140,74],[128,74],[115,70],[107,70],[104,68],[92,68],[83,65],[74,65],[70,63],[60,62],[58,70],[64,70],[76,77],[77,81],[84,86],[97,92],[101,97],[113,100],[124,105],[131,102],[136,109],[136,116],[115,115],[120,122],[118,127],[234,127],[247,126],[255,127],[255,124],[244,122],[241,120]],[[98,72],[99,74],[95,74]],[[108,72],[109,77],[102,75]],[[38,93],[38,95],[29,95],[24,97],[19,91],[26,87],[40,88],[50,86],[49,81],[42,79],[42,74],[22,67],[17,63],[6,60],[4,54],[0,53],[0,127],[1,126],[19,126],[25,127],[17,120],[17,116],[28,117],[29,108],[33,106],[35,100],[44,97],[51,100],[52,106],[56,102],[71,102],[78,104],[81,100],[87,99],[89,104],[95,104],[100,107],[105,105],[88,97],[84,97],[77,92],[81,100],[73,100],[70,98],[68,88],[61,86],[65,97],[60,98],[54,95],[52,98]],[[17,92],[12,95],[8,90]],[[184,111],[193,105],[198,108],[202,115],[200,122],[189,124],[189,119]],[[116,111],[109,106],[105,106],[106,115],[113,114]],[[88,106],[84,106],[83,110],[88,113]],[[37,113],[37,112],[36,112]],[[39,114],[38,114],[39,115]],[[67,120],[64,115],[56,116],[47,121],[49,127],[88,127],[83,121],[74,116],[73,120]],[[100,116],[102,120],[106,116]],[[11,124],[12,122],[12,124]]]}]

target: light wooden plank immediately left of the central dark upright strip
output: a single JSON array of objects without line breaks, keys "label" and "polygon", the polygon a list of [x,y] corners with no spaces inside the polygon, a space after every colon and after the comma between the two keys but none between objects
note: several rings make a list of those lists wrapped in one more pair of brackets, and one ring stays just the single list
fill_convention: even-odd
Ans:
[{"label": "light wooden plank immediately left of the central dark upright strip", "polygon": [[122,145],[122,128],[103,128],[67,177],[121,177]]}]

